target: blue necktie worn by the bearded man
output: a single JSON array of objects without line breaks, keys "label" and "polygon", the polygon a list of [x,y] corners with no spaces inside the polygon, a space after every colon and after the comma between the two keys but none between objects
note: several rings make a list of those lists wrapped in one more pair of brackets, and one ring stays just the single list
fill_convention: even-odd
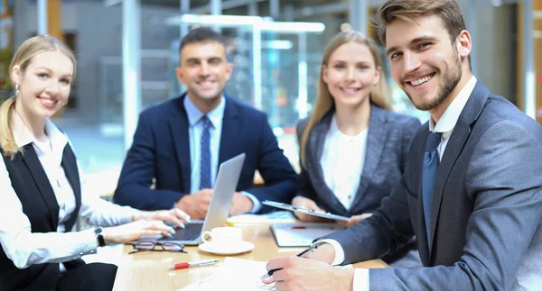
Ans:
[{"label": "blue necktie worn by the bearded man", "polygon": [[429,249],[431,249],[431,202],[433,201],[436,169],[439,164],[436,147],[438,147],[442,135],[442,132],[431,132],[427,137],[427,144],[425,145],[424,152],[422,193],[424,199],[425,231],[427,232],[427,244],[429,245]]}]

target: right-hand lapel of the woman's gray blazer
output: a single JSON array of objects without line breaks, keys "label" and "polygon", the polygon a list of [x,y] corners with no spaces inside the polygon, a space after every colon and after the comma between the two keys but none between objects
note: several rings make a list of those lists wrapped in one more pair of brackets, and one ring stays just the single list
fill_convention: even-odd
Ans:
[{"label": "right-hand lapel of the woman's gray blazer", "polygon": [[[360,177],[360,186],[356,191],[353,205],[358,205],[369,188],[369,182],[375,170],[378,167],[378,161],[382,155],[383,145],[388,138],[388,126],[386,123],[386,112],[378,106],[370,106],[369,132],[367,134],[367,146],[365,150],[365,160],[363,161],[363,170]],[[350,210],[353,208],[350,207]]]}]

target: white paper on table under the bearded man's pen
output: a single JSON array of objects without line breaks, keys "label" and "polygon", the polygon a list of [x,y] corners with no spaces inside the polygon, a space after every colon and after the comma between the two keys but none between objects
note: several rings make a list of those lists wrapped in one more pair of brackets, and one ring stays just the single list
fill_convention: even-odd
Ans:
[{"label": "white paper on table under the bearded man's pen", "polygon": [[220,264],[217,273],[212,276],[183,287],[178,291],[217,291],[217,290],[269,290],[276,291],[275,283],[263,284],[261,277],[266,274],[266,262],[226,258]]}]

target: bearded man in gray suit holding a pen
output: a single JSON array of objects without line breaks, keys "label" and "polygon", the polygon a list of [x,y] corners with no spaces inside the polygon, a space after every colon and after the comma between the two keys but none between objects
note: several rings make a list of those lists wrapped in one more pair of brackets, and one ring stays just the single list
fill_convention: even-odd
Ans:
[{"label": "bearded man in gray suit holding a pen", "polygon": [[[542,128],[472,76],[457,0],[390,0],[379,18],[393,77],[431,118],[375,214],[315,242],[309,259],[270,260],[276,271],[264,282],[278,290],[541,290]],[[415,234],[424,268],[330,266],[382,257]]]}]

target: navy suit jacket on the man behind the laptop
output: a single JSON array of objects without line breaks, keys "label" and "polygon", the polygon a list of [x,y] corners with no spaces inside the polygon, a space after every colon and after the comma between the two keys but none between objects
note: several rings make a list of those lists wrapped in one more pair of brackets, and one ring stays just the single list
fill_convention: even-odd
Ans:
[{"label": "navy suit jacket on the man behind the laptop", "polygon": [[[134,142],[128,150],[114,200],[142,210],[170,209],[191,189],[186,94],[155,105],[139,115]],[[244,152],[245,163],[237,191],[248,191],[260,201],[290,202],[296,174],[267,123],[266,114],[229,96],[222,120],[219,164]],[[265,187],[254,187],[258,170]],[[155,188],[149,188],[155,183]],[[262,205],[260,213],[272,208]]]}]

